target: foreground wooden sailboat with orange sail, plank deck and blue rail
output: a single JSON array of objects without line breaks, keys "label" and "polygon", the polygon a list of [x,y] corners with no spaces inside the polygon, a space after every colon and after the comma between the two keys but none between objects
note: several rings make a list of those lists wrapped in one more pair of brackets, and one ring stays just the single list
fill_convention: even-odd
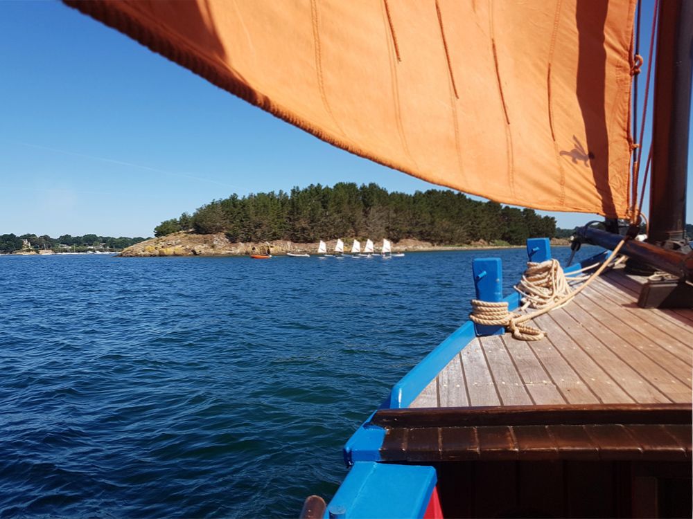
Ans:
[{"label": "foreground wooden sailboat with orange sail, plank deck and blue rail", "polygon": [[[65,1],[349,152],[638,230],[635,0]],[[649,243],[590,226],[578,238],[673,279],[604,268],[536,318],[539,340],[514,338],[513,317],[464,323],[347,441],[331,502],[308,498],[301,516],[691,516],[693,2],[661,2],[658,24]],[[544,240],[527,253],[553,265]],[[482,303],[522,304],[502,294],[498,259],[471,279]]]}]

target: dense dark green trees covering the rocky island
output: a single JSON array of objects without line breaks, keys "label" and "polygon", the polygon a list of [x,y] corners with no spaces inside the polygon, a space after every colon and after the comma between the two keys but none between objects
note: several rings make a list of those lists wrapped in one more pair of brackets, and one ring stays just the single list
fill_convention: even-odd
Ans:
[{"label": "dense dark green trees covering the rocky island", "polygon": [[179,230],[226,233],[232,242],[315,242],[338,237],[420,239],[433,244],[507,242],[554,237],[556,220],[532,209],[480,202],[450,190],[387,192],[375,183],[309,185],[214,200],[192,215],[162,221],[155,236]]}]

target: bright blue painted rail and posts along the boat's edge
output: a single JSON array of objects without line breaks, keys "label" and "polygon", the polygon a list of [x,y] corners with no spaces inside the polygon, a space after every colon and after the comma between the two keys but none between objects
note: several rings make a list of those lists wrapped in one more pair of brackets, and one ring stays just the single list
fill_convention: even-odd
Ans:
[{"label": "bright blue painted rail and posts along the boat's edge", "polygon": [[[592,266],[604,261],[607,255],[608,252],[603,251],[565,268],[564,272],[569,274]],[[550,260],[549,240],[528,240],[527,257],[532,262]],[[502,297],[502,265],[499,258],[475,260],[473,273],[477,298],[505,301],[510,311],[520,306],[520,295],[517,292]],[[500,330],[502,333],[502,327]],[[498,330],[492,330],[494,334],[497,332]],[[409,407],[437,374],[476,336],[474,323],[465,322],[394,385],[380,408]],[[370,424],[373,415],[358,428],[344,446],[344,462],[352,468],[330,502],[324,517],[422,518],[436,484],[435,469],[431,466],[378,463],[385,429]]]}]

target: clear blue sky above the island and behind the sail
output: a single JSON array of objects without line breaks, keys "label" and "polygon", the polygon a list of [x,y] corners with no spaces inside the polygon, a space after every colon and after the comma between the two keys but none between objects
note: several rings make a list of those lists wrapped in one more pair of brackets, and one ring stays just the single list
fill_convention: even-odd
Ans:
[{"label": "clear blue sky above the island and behind the sail", "polygon": [[[0,70],[0,234],[150,236],[232,192],[435,187],[322,143],[57,1],[0,1]],[[542,214],[568,228],[591,219]]]}]

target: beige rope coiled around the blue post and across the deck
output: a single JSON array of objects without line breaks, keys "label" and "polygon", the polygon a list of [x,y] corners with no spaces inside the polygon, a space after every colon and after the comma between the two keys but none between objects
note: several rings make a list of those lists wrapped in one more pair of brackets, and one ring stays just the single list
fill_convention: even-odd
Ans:
[{"label": "beige rope coiled around the blue post and across the deck", "polygon": [[604,263],[588,277],[584,284],[581,284],[574,290],[570,289],[568,278],[556,260],[527,263],[527,271],[525,271],[522,280],[515,286],[515,289],[523,296],[523,306],[520,308],[520,311],[524,311],[527,307],[532,307],[537,309],[536,312],[511,312],[508,311],[508,303],[505,301],[489,302],[473,299],[472,313],[469,318],[476,322],[477,325],[505,327],[518,340],[541,340],[546,336],[546,332],[525,323],[570,302],[572,298],[593,282],[599,274],[604,272],[604,269],[611,264],[627,239],[628,237],[622,239],[611,251],[611,255],[606,258]]}]

